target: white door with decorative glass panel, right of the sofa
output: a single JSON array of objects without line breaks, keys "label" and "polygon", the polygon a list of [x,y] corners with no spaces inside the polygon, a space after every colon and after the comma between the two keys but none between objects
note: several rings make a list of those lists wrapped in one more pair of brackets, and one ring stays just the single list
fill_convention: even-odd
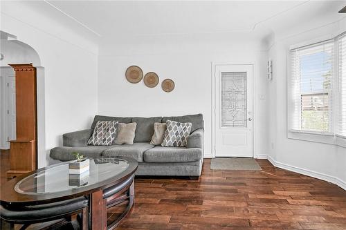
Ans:
[{"label": "white door with decorative glass panel, right of the sofa", "polygon": [[215,66],[215,156],[253,157],[253,65]]}]

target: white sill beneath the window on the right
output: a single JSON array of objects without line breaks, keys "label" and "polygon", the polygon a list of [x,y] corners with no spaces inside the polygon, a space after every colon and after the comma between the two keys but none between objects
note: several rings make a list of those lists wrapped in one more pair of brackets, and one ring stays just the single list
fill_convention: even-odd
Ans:
[{"label": "white sill beneath the window on the right", "polygon": [[294,140],[332,144],[346,148],[346,137],[343,135],[334,135],[334,133],[290,130],[287,133],[287,137]]}]

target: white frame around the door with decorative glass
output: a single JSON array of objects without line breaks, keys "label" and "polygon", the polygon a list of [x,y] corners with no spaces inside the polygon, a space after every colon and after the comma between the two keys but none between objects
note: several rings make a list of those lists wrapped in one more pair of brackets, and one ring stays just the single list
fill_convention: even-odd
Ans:
[{"label": "white frame around the door with decorative glass", "polygon": [[212,62],[212,158],[216,157],[216,67],[217,66],[253,66],[253,97],[251,98],[253,100],[253,106],[251,108],[251,111],[253,111],[253,158],[255,157],[254,155],[254,146],[255,146],[255,111],[253,108],[255,108],[255,100],[254,100],[254,95],[255,95],[255,64],[249,64],[249,63],[242,63],[242,64],[233,64],[233,63],[227,63],[227,62]]}]

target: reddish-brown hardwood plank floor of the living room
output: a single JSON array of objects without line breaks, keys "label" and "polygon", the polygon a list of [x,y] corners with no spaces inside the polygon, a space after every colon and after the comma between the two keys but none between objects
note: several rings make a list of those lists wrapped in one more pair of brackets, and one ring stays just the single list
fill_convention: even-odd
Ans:
[{"label": "reddish-brown hardwood plank floor of the living room", "polygon": [[[257,162],[262,171],[212,171],[207,159],[198,181],[137,178],[134,209],[117,229],[346,229],[346,191]],[[1,184],[5,169],[1,153]]]}]

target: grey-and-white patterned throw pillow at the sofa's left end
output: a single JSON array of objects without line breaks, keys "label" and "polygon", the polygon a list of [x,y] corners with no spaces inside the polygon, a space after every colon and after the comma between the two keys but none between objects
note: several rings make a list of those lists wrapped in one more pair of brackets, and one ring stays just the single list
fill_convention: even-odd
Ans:
[{"label": "grey-and-white patterned throw pillow at the sofa's left end", "polygon": [[93,129],[93,135],[86,144],[111,145],[116,139],[118,121],[98,121]]}]

